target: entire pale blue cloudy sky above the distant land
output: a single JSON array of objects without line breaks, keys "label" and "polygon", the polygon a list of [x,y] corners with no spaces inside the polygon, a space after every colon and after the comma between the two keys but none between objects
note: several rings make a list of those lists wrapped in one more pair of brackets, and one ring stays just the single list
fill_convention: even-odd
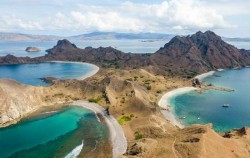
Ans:
[{"label": "entire pale blue cloudy sky above the distant land", "polygon": [[192,34],[250,37],[250,0],[1,0],[0,32]]}]

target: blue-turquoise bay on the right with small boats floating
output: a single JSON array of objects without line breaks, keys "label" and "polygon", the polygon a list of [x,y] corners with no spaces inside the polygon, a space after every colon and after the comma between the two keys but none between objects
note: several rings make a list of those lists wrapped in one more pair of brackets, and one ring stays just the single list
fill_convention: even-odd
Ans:
[{"label": "blue-turquoise bay on the right with small boats floating", "polygon": [[[207,83],[234,89],[234,92],[195,91],[171,98],[177,117],[185,116],[182,123],[213,123],[216,131],[250,126],[250,68],[216,72],[205,79]],[[231,107],[223,108],[223,104]],[[200,119],[198,119],[200,118]]]}]

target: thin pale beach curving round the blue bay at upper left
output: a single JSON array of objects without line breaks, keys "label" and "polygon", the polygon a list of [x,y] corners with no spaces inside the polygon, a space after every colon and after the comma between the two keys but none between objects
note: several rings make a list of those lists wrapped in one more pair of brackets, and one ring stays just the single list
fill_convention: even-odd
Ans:
[{"label": "thin pale beach curving round the blue bay at upper left", "polygon": [[94,64],[90,64],[90,63],[84,63],[84,62],[73,62],[73,61],[49,61],[49,62],[52,62],[52,63],[71,63],[71,64],[84,64],[84,65],[88,65],[90,67],[93,68],[93,70],[79,78],[76,78],[76,79],[79,79],[79,80],[84,80],[88,77],[91,77],[93,75],[95,75],[99,70],[100,68]]}]

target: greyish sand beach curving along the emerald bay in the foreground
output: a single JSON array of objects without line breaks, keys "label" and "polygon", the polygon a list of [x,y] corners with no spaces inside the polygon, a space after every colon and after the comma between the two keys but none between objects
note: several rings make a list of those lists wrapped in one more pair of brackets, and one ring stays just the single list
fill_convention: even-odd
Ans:
[{"label": "greyish sand beach curving along the emerald bay in the foreground", "polygon": [[105,109],[103,107],[95,103],[89,103],[87,101],[75,101],[72,103],[72,105],[82,106],[96,114],[98,113],[103,116],[110,131],[110,139],[113,147],[113,158],[117,158],[126,152],[127,140],[122,127],[118,124],[113,116],[106,115],[104,111]]}]

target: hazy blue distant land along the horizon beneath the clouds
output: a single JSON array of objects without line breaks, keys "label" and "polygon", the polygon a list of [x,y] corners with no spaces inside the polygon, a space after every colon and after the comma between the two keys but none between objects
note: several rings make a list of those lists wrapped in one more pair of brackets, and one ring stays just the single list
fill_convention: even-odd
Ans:
[{"label": "hazy blue distant land along the horizon beneath the clouds", "polygon": [[[140,40],[152,42],[154,40],[170,40],[174,34],[167,33],[118,33],[118,32],[91,32],[74,36],[32,35],[24,33],[0,32],[0,41],[57,41],[63,38],[71,41],[81,40]],[[249,42],[250,38],[222,37],[230,42]]]}]

